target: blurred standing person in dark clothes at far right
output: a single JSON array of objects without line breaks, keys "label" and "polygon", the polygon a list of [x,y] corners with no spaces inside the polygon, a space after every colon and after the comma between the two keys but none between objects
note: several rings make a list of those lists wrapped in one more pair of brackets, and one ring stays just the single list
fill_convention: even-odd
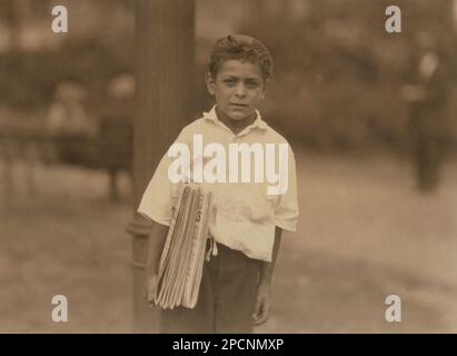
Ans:
[{"label": "blurred standing person in dark clothes at far right", "polygon": [[429,32],[416,37],[410,78],[403,88],[409,102],[413,159],[419,189],[431,191],[439,182],[445,152],[447,80],[445,65]]}]

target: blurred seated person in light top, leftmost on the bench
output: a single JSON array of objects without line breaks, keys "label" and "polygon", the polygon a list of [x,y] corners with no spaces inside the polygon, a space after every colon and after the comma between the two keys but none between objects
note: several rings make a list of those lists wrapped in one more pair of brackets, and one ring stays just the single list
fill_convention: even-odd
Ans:
[{"label": "blurred seated person in light top, leftmost on the bench", "polygon": [[48,110],[46,129],[57,147],[57,159],[67,164],[90,165],[92,140],[97,122],[85,108],[86,90],[82,86],[64,81],[58,85]]}]

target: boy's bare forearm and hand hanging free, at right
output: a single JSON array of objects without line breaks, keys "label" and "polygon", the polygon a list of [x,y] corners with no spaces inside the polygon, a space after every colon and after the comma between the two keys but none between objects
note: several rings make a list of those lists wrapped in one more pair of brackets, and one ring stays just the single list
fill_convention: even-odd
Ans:
[{"label": "boy's bare forearm and hand hanging free, at right", "polygon": [[264,324],[268,320],[268,316],[270,314],[271,279],[276,259],[278,257],[279,246],[281,244],[281,233],[282,229],[276,227],[271,261],[262,261],[260,265],[260,279],[257,286],[256,305],[252,315],[254,325]]}]

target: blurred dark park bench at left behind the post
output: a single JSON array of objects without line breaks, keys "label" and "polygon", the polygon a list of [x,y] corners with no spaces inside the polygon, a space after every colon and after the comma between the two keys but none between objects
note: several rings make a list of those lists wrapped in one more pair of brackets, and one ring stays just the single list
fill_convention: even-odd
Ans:
[{"label": "blurred dark park bench at left behind the post", "polygon": [[[107,188],[111,200],[119,199],[118,175],[131,171],[132,127],[125,120],[105,119],[93,137],[83,135],[51,135],[42,127],[0,128],[0,165],[7,192],[14,191],[12,168],[22,160],[32,165],[70,165],[102,169],[109,175]],[[30,175],[32,177],[32,175]],[[29,184],[34,182],[29,179]]]}]

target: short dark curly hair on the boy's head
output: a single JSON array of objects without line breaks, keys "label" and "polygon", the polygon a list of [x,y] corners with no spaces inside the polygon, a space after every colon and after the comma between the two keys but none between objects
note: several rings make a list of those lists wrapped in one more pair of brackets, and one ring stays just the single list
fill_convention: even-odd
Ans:
[{"label": "short dark curly hair on the boy's head", "polygon": [[220,62],[229,59],[258,61],[264,81],[268,81],[272,76],[272,57],[270,52],[267,47],[252,37],[232,34],[216,41],[209,61],[209,72],[213,78],[216,78]]}]

